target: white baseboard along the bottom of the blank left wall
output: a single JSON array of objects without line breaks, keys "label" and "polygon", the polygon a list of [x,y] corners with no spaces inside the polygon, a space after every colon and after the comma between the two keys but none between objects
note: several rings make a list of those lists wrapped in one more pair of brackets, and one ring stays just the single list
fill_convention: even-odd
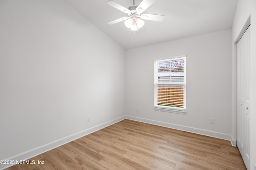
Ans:
[{"label": "white baseboard along the bottom of the blank left wall", "polygon": [[[100,125],[97,125],[97,126],[94,126],[94,127],[91,127],[89,129],[86,129],[84,131],[81,131],[81,132],[78,132],[78,133],[75,133],[73,135],[70,135],[68,137],[64,137],[62,139],[59,139],[57,141],[53,141],[52,143],[48,143],[46,145],[42,145],[40,147],[37,147],[37,148],[34,148],[34,149],[31,149],[31,150],[28,150],[26,152],[23,152],[23,153],[20,153],[20,154],[17,154],[15,156],[12,156],[10,158],[6,158],[4,160],[14,160],[15,163],[16,163],[16,160],[27,160],[27,159],[30,159],[34,156],[37,156],[39,154],[42,154],[44,152],[47,152],[48,150],[51,150],[51,149],[54,149],[56,147],[59,147],[61,145],[64,145],[66,143],[69,143],[71,141],[74,141],[80,137],[83,137],[85,135],[88,135],[90,133],[93,133],[95,131],[98,131],[100,129],[103,129],[104,127],[107,127],[107,126],[110,126],[114,123],[117,123],[119,121],[122,121],[126,119],[126,116],[122,116],[122,117],[118,117],[116,119],[113,119],[111,121],[108,121],[108,122],[105,122],[105,123],[102,123]],[[5,168],[8,168],[10,166],[13,166],[14,164],[0,164],[0,170],[3,170]]]}]

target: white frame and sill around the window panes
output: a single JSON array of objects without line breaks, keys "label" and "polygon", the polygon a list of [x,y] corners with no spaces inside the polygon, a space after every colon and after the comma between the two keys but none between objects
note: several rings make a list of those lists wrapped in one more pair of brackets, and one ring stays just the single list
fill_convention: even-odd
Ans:
[{"label": "white frame and sill around the window panes", "polygon": [[[165,61],[165,60],[176,60],[176,59],[184,59],[184,82],[158,82],[158,61]],[[183,106],[184,108],[180,107],[171,107],[171,106],[158,106],[158,85],[176,85],[176,86],[183,86]],[[186,114],[186,55],[176,56],[176,57],[168,57],[166,59],[155,59],[154,60],[154,109],[156,111],[165,111],[171,113],[179,113],[179,114]]]}]

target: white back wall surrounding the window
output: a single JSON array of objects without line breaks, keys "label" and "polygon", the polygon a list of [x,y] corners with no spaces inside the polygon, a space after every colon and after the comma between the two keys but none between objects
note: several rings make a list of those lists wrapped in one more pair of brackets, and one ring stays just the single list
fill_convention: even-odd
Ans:
[{"label": "white back wall surrounding the window", "polygon": [[[230,140],[230,41],[228,29],[126,51],[126,114],[131,119]],[[187,113],[155,111],[154,59],[179,55],[187,55]],[[215,119],[214,125],[210,118]]]}]

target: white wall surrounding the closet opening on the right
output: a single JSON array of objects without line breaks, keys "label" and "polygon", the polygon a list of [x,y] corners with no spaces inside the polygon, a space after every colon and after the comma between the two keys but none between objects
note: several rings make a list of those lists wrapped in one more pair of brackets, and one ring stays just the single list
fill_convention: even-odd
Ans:
[{"label": "white wall surrounding the closet opening on the right", "polygon": [[[238,0],[236,14],[234,17],[234,23],[232,26],[232,75],[233,81],[233,96],[234,101],[232,104],[233,117],[236,117],[236,46],[237,39],[244,32],[243,27],[246,25],[246,21],[250,17],[250,169],[254,170],[254,164],[256,166],[256,1],[255,0]],[[234,120],[234,137],[236,138],[236,119]]]}]

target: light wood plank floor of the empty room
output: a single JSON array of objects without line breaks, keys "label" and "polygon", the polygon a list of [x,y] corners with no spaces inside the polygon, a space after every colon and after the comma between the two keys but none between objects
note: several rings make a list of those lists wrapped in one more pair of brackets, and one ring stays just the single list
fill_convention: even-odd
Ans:
[{"label": "light wood plank floor of the empty room", "polygon": [[8,170],[246,170],[230,141],[125,119]]}]

